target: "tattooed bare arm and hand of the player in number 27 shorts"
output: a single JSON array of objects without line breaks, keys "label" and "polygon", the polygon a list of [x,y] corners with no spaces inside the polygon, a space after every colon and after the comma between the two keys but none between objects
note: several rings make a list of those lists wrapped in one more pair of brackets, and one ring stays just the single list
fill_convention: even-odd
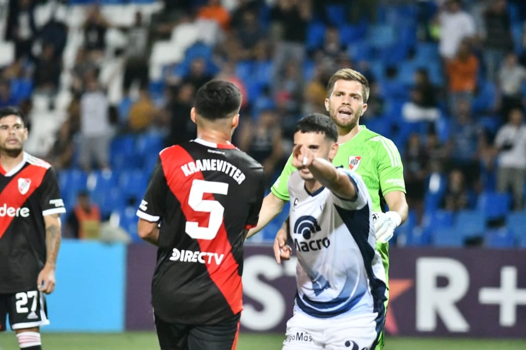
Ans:
[{"label": "tattooed bare arm and hand of the player in number 27 shorts", "polygon": [[44,216],[46,227],[46,263],[44,268],[38,273],[38,290],[46,294],[55,290],[55,269],[57,266],[58,249],[60,248],[60,216],[50,214]]}]

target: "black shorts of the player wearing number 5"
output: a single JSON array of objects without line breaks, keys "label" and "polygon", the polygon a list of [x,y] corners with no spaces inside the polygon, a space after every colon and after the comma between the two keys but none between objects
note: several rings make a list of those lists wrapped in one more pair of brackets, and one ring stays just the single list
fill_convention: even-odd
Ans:
[{"label": "black shorts of the player wearing number 5", "polygon": [[161,350],[230,350],[236,348],[241,313],[216,325],[165,322],[155,315]]}]

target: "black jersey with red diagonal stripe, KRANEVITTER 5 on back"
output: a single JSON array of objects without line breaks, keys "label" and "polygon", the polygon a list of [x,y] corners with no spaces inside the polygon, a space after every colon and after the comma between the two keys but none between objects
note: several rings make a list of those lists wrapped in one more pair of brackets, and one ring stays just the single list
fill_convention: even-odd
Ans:
[{"label": "black jersey with red diagonal stripe, KRANEVITTER 5 on back", "polygon": [[261,164],[231,144],[168,147],[137,216],[159,221],[152,304],[166,322],[214,324],[242,310],[246,230],[265,193]]}]

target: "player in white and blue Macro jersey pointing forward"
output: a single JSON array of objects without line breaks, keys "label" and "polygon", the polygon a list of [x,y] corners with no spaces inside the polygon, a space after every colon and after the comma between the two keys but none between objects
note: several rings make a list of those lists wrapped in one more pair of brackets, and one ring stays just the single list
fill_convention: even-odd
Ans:
[{"label": "player in white and blue Macro jersey pointing forward", "polygon": [[337,138],[336,124],[318,113],[294,133],[289,232],[298,291],[285,350],[373,349],[385,317],[371,198],[358,174],[332,165]]}]

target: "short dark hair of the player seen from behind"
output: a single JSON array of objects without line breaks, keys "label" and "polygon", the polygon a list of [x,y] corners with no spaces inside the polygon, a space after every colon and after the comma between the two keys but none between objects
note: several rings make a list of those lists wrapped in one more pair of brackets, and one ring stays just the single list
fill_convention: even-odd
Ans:
[{"label": "short dark hair of the player seen from behind", "polygon": [[231,82],[210,80],[196,92],[196,113],[208,120],[223,119],[239,113],[241,92]]}]

